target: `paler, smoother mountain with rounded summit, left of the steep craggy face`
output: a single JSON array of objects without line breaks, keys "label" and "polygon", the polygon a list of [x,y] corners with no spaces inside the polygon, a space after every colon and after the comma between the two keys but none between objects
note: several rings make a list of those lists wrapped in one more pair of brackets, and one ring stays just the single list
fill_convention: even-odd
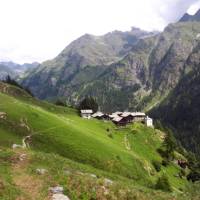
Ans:
[{"label": "paler, smoother mountain with rounded summit, left of the steep craggy face", "polygon": [[130,32],[114,31],[103,36],[83,35],[55,59],[33,70],[23,84],[39,98],[65,96],[76,103],[82,98],[77,94],[83,83],[99,79],[102,73],[113,68],[113,63],[123,59],[141,38],[154,34],[132,28]]}]

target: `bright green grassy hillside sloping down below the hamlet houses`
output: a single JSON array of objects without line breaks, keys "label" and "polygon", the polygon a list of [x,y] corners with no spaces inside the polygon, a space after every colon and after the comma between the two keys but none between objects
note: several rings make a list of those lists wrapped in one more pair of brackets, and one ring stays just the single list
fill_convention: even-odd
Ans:
[{"label": "bright green grassy hillside sloping down below the hamlet houses", "polygon": [[[0,83],[0,91],[0,112],[7,114],[6,119],[0,120],[0,154],[6,154],[0,169],[6,171],[6,177],[0,174],[0,181],[15,191],[12,198],[8,198],[11,194],[4,188],[3,199],[15,199],[17,195],[30,193],[24,190],[26,186],[16,183],[13,178],[22,175],[25,180],[28,176],[33,182],[40,182],[40,198],[35,199],[45,199],[48,187],[57,184],[64,185],[71,199],[116,199],[121,190],[126,195],[130,191],[130,197],[122,195],[121,199],[173,199],[174,195],[178,198],[185,191],[188,182],[176,176],[181,171],[178,165],[162,166],[160,172],[152,165],[153,161],[162,160],[157,152],[162,144],[162,132],[140,123],[120,129],[111,122],[85,120],[74,109],[37,101],[14,86]],[[9,150],[13,143],[21,144],[27,135],[31,136],[31,150]],[[24,164],[16,159],[22,154],[28,156]],[[13,171],[13,162],[19,171]],[[48,169],[49,173],[44,178],[35,177],[37,167]],[[71,176],[64,175],[65,169],[73,171]],[[94,181],[85,173],[96,174],[98,178]],[[162,174],[168,176],[173,193],[153,190]],[[98,192],[92,192],[91,186],[102,186],[104,178],[116,183],[110,189],[113,197],[97,198]],[[80,190],[85,196],[80,197]],[[138,196],[133,195],[134,191]]]}]

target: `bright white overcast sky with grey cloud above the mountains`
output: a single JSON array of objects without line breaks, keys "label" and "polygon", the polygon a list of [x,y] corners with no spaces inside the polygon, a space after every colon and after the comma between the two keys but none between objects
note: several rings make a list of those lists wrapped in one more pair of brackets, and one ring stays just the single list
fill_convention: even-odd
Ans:
[{"label": "bright white overcast sky with grey cloud above the mountains", "polygon": [[0,60],[42,62],[85,33],[162,31],[200,0],[0,0]]}]

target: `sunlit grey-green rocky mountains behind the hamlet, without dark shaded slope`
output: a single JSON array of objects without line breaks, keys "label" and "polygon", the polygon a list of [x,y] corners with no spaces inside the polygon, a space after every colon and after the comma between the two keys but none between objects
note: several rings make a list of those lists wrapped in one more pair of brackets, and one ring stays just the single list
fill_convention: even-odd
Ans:
[{"label": "sunlit grey-green rocky mountains behind the hamlet, without dark shaded slope", "polygon": [[162,33],[115,31],[84,35],[24,80],[42,99],[62,97],[77,104],[96,97],[101,110],[150,109],[193,70],[187,65],[198,48],[200,24],[179,22]]}]

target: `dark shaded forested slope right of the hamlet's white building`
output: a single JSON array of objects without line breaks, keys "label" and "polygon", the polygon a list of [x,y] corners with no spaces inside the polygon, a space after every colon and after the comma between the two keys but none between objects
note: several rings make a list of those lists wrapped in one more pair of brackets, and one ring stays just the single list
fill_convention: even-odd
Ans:
[{"label": "dark shaded forested slope right of the hamlet's white building", "polygon": [[[199,64],[198,64],[199,65]],[[200,67],[184,77],[151,114],[174,129],[179,141],[200,155]]]}]

